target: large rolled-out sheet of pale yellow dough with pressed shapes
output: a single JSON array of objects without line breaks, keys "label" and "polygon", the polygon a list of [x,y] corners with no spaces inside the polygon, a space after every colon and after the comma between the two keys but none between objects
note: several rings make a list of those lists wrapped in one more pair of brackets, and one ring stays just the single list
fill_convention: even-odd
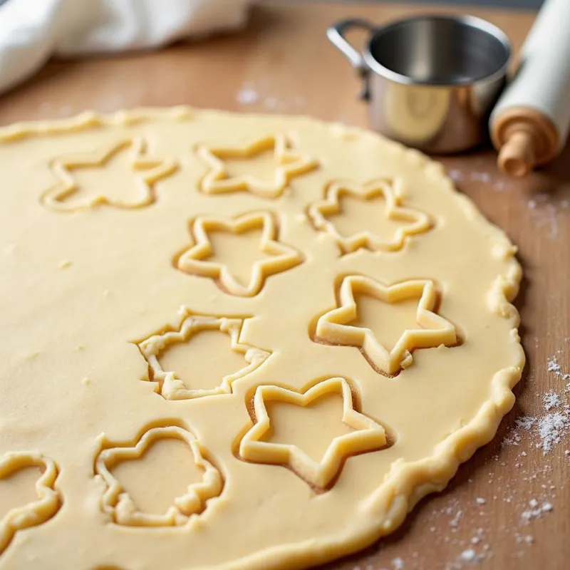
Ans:
[{"label": "large rolled-out sheet of pale yellow dough with pressed shapes", "polygon": [[0,161],[1,570],[306,568],[513,405],[515,248],[418,152],[174,108]]}]

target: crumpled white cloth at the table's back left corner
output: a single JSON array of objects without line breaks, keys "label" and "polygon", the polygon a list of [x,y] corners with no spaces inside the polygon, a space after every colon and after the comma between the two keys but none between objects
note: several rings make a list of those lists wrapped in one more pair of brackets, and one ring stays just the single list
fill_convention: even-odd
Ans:
[{"label": "crumpled white cloth at the table's back left corner", "polygon": [[52,55],[157,48],[238,28],[246,21],[248,4],[249,0],[4,0],[0,92],[24,81]]}]

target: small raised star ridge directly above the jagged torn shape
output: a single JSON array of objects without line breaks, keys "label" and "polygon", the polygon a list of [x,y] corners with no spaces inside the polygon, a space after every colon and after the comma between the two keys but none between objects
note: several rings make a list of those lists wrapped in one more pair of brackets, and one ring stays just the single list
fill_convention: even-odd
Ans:
[{"label": "small raised star ridge directly above the jagged torn shape", "polygon": [[[208,234],[229,232],[239,236],[254,229],[261,229],[259,251],[269,257],[255,261],[249,282],[242,284],[227,264],[208,261],[214,254]],[[278,241],[277,226],[269,212],[251,212],[233,219],[198,217],[191,224],[190,234],[195,245],[175,259],[175,266],[188,274],[216,280],[221,289],[230,295],[255,296],[268,276],[291,269],[303,261],[303,256],[296,249]]]}]

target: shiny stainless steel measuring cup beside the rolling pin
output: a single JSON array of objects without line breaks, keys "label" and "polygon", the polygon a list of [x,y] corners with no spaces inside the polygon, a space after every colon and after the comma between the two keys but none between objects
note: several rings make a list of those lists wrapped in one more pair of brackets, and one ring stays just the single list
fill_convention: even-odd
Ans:
[{"label": "shiny stainless steel measuring cup beside the rolling pin", "polygon": [[[358,51],[344,34],[365,28]],[[375,28],[344,20],[328,39],[363,78],[373,128],[425,152],[459,152],[487,135],[506,81],[509,38],[473,16],[416,16]]]}]

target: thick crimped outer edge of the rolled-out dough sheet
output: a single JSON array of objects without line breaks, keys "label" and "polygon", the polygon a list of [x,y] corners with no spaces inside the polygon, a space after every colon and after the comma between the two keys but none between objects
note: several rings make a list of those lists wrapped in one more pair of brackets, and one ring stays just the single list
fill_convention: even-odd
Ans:
[{"label": "thick crimped outer edge of the rolled-out dough sheet", "polygon": [[[111,115],[86,111],[69,119],[15,123],[0,128],[0,142],[11,142],[35,135],[58,135],[105,125],[133,125],[157,119],[192,120],[199,117],[207,118],[208,115],[235,117],[239,113],[224,110],[197,110],[185,105],[173,108],[122,110]],[[247,118],[269,117],[276,120],[295,120],[297,122],[306,121],[328,128],[332,136],[347,139],[372,138],[378,140],[378,138],[382,138],[377,133],[363,128],[328,123],[306,116],[252,113],[242,116]],[[482,405],[475,418],[440,442],[430,457],[411,463],[400,461],[393,463],[380,489],[358,506],[358,517],[351,520],[351,524],[348,525],[351,527],[351,532],[337,534],[327,541],[311,539],[297,544],[285,544],[265,549],[253,556],[218,566],[218,570],[238,570],[245,567],[250,570],[271,570],[283,568],[284,565],[290,570],[301,570],[370,546],[381,537],[394,532],[403,523],[406,514],[423,497],[445,489],[452,477],[455,476],[460,464],[470,459],[479,447],[492,440],[502,418],[509,413],[514,405],[512,388],[520,380],[525,363],[524,351],[518,333],[519,312],[511,302],[517,296],[522,279],[522,268],[514,257],[517,249],[502,229],[494,226],[483,216],[470,198],[457,191],[450,177],[445,174],[445,169],[440,162],[432,161],[422,152],[409,149],[398,142],[383,140],[387,149],[391,150],[393,154],[403,155],[410,165],[423,168],[427,177],[445,185],[453,192],[467,218],[479,222],[483,228],[487,229],[489,241],[494,239],[496,242],[492,248],[492,255],[502,259],[506,269],[504,274],[497,276],[494,281],[487,296],[487,304],[489,310],[502,318],[509,319],[512,323],[510,339],[512,346],[516,349],[514,362],[512,366],[503,368],[494,374],[491,381],[491,398]],[[379,523],[380,520],[383,522]]]}]

